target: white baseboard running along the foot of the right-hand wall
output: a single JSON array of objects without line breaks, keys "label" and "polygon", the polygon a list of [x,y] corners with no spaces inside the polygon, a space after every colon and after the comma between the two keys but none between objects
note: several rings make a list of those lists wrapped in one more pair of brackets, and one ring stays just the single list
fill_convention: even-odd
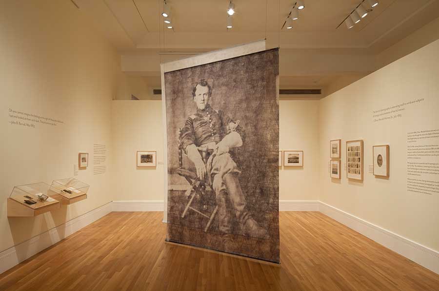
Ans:
[{"label": "white baseboard running along the foot of the right-hand wall", "polygon": [[439,252],[424,247],[389,230],[382,229],[370,222],[344,212],[338,208],[320,202],[321,213],[337,220],[350,229],[361,233],[371,240],[391,249],[413,262],[439,274]]}]

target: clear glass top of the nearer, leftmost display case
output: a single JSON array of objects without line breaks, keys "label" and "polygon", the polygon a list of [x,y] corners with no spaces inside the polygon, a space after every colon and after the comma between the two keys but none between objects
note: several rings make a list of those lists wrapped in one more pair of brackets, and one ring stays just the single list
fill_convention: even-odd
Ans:
[{"label": "clear glass top of the nearer, leftmost display case", "polygon": [[38,209],[59,203],[58,200],[51,197],[54,194],[56,192],[50,185],[40,182],[14,187],[9,198],[29,208]]}]

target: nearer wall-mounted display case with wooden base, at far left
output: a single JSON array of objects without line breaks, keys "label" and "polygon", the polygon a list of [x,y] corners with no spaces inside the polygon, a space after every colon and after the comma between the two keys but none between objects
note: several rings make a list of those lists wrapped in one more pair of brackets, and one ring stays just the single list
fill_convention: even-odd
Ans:
[{"label": "nearer wall-mounted display case with wooden base, at far left", "polygon": [[36,216],[60,208],[56,192],[46,183],[16,186],[8,198],[8,216]]}]

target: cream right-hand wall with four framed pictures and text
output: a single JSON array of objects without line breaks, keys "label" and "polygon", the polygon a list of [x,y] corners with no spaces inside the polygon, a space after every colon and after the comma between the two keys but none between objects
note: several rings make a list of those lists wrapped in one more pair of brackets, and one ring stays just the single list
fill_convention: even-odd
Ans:
[{"label": "cream right-hand wall with four framed pictures and text", "polygon": [[[438,52],[436,41],[322,99],[319,108],[320,200],[435,250],[439,195],[407,191],[406,150],[408,132],[439,129]],[[374,122],[373,110],[422,98],[422,103],[405,106],[401,117]],[[344,170],[341,181],[331,180],[327,163],[332,139],[342,140],[342,164],[346,141],[364,140],[364,182],[348,181]],[[368,173],[373,145],[390,145],[388,180]]]}]

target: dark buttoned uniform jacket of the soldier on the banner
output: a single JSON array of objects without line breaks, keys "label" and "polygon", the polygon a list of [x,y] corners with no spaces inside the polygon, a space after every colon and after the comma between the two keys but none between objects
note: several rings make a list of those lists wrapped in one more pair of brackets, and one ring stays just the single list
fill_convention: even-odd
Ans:
[{"label": "dark buttoned uniform jacket of the soldier on the banner", "polygon": [[[219,143],[228,133],[228,125],[235,123],[224,115],[221,110],[214,110],[209,104],[197,113],[191,115],[180,132],[180,148],[186,151],[188,145],[205,145],[211,142]],[[236,131],[241,134],[238,125]],[[242,136],[242,134],[241,134]]]}]

